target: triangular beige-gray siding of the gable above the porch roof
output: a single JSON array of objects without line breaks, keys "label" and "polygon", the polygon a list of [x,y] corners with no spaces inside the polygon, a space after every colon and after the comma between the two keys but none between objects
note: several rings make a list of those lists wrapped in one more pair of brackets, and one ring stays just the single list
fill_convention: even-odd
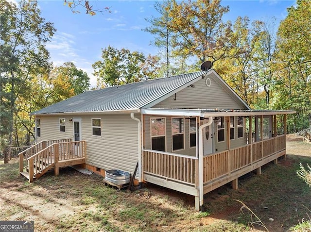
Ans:
[{"label": "triangular beige-gray siding of the gable above the porch roof", "polygon": [[[188,86],[153,106],[153,108],[192,108],[192,109],[246,109],[245,105],[213,74]],[[176,100],[175,100],[176,99]]]}]

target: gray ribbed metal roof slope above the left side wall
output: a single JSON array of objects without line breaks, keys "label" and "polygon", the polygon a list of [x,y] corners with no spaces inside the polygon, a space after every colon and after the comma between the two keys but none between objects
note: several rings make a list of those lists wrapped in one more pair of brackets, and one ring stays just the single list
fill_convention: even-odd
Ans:
[{"label": "gray ribbed metal roof slope above the left side wall", "polygon": [[189,85],[188,83],[205,73],[199,71],[91,90],[33,112],[32,115],[138,110],[184,85]]}]

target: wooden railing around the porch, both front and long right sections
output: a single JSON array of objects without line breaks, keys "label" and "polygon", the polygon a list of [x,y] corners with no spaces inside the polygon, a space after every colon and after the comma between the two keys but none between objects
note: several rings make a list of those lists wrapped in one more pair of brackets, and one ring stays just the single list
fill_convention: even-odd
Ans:
[{"label": "wooden railing around the porch, both front and long right sections", "polygon": [[[286,148],[285,135],[203,156],[203,182],[208,184],[238,170],[248,170],[257,162]],[[192,156],[143,150],[143,172],[176,182],[195,186],[198,159]],[[225,184],[225,183],[224,183]]]}]

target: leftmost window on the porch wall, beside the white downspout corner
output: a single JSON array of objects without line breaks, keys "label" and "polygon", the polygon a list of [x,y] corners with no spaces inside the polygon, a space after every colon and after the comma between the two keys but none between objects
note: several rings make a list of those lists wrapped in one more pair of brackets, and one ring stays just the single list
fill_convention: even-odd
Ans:
[{"label": "leftmost window on the porch wall, beside the white downspout corner", "polygon": [[165,118],[151,118],[151,149],[166,151],[166,120]]}]

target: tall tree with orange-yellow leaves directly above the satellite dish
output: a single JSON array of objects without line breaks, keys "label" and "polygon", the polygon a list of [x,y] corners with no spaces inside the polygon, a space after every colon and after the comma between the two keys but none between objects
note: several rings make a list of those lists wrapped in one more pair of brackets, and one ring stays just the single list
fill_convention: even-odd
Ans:
[{"label": "tall tree with orange-yellow leaves directly above the satellite dish", "polygon": [[201,63],[227,56],[231,48],[231,23],[222,21],[229,8],[222,6],[221,0],[172,0],[167,11],[172,18],[170,29],[176,34],[175,53],[195,56]]}]

